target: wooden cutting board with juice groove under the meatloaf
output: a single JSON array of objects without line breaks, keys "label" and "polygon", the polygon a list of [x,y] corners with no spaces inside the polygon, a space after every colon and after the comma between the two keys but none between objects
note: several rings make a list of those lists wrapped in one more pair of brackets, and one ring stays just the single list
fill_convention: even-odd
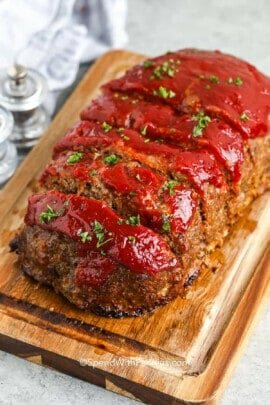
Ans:
[{"label": "wooden cutting board with juice groove under the meatloaf", "polygon": [[0,348],[153,404],[213,403],[228,380],[270,279],[270,195],[233,229],[185,299],[141,318],[106,319],[76,309],[22,275],[8,243],[55,141],[78,120],[99,86],[141,61],[102,56],[0,195]]}]

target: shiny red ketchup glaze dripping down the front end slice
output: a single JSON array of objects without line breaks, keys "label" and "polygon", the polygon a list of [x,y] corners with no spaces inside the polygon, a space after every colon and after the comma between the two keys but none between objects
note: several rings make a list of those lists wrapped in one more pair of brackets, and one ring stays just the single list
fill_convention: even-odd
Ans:
[{"label": "shiny red ketchup glaze dripping down the front end slice", "polygon": [[[59,213],[59,216],[44,223],[40,221],[40,214],[48,206]],[[112,209],[99,200],[49,191],[29,198],[25,223],[29,226],[39,225],[75,240],[78,246],[79,272],[81,274],[84,268],[90,274],[89,280],[94,279],[93,274],[98,274],[97,279],[102,282],[102,275],[106,277],[117,265],[149,275],[178,266],[176,257],[163,238],[142,225],[119,224],[119,219],[121,218]],[[108,240],[100,248],[97,245],[94,221],[101,224],[104,238]],[[79,234],[81,231],[88,232],[92,240],[82,242]],[[106,256],[102,255],[102,251]],[[96,259],[92,266],[93,257]]]}]

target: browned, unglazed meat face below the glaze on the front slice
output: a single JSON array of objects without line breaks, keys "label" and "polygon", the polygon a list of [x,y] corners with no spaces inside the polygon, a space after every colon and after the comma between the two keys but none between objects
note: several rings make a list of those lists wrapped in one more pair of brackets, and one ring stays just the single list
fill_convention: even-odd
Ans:
[{"label": "browned, unglazed meat face below the glaze on the front slice", "polygon": [[100,286],[78,283],[76,244],[38,226],[26,227],[17,244],[19,265],[26,274],[52,286],[78,307],[99,315],[142,315],[183,293],[179,269],[147,276],[119,266]]}]

